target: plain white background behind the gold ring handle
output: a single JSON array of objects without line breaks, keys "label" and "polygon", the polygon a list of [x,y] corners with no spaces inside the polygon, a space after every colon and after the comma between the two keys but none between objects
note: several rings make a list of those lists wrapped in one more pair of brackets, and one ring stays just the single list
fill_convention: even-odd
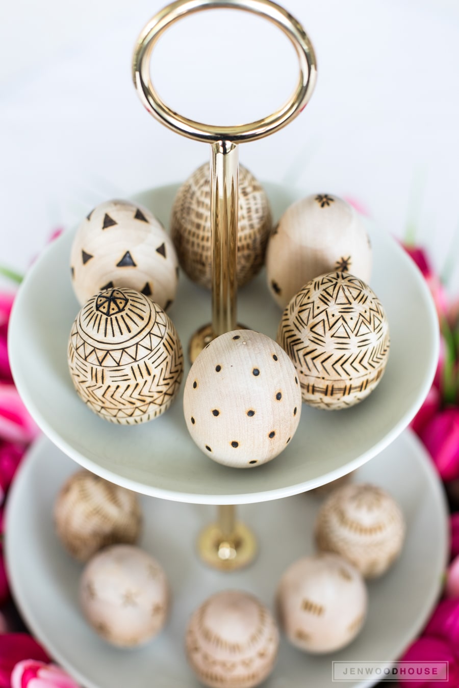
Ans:
[{"label": "plain white background behind the gold ring handle", "polygon": [[[136,36],[163,4],[1,3],[1,264],[25,269],[56,226],[109,197],[182,180],[206,160],[205,144],[147,115],[131,83]],[[355,197],[398,236],[415,222],[441,269],[459,253],[459,3],[285,5],[314,43],[317,89],[284,131],[245,144],[242,162],[305,193]],[[155,57],[156,83],[171,105],[211,123],[270,111],[296,74],[281,34],[229,14],[177,25]],[[459,288],[458,269],[451,286]]]}]

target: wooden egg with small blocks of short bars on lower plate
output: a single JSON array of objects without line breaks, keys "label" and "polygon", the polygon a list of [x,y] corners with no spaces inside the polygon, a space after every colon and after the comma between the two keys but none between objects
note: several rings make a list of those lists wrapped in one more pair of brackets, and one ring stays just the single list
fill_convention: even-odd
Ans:
[{"label": "wooden egg with small blocks of short bars on lower plate", "polygon": [[367,613],[367,588],[348,561],[332,554],[303,557],[277,588],[279,624],[290,643],[313,654],[354,640]]}]

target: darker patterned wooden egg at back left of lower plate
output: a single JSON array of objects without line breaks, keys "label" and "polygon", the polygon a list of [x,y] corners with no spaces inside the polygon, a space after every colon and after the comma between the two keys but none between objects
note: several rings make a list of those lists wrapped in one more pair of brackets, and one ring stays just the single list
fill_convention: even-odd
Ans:
[{"label": "darker patterned wooden egg at back left of lower plate", "polygon": [[89,471],[78,471],[58,494],[54,523],[67,552],[87,561],[109,545],[134,544],[142,512],[136,493]]}]

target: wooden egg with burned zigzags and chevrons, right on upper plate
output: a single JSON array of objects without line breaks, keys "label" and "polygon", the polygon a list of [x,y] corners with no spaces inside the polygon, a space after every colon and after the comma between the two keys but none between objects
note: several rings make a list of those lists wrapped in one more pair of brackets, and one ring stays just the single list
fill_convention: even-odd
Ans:
[{"label": "wooden egg with burned zigzags and chevrons, right on upper plate", "polygon": [[365,399],[381,380],[389,325],[365,282],[330,272],[293,297],[277,341],[295,364],[303,401],[319,409],[344,409]]}]

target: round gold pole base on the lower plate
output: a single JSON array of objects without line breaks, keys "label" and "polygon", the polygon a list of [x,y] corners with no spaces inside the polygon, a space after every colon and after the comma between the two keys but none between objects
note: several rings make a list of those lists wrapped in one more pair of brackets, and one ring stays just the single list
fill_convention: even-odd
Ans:
[{"label": "round gold pole base on the lower plate", "polygon": [[198,539],[198,552],[212,568],[235,571],[248,566],[257,555],[257,541],[243,523],[235,524],[231,537],[226,538],[217,524],[207,526]]}]

